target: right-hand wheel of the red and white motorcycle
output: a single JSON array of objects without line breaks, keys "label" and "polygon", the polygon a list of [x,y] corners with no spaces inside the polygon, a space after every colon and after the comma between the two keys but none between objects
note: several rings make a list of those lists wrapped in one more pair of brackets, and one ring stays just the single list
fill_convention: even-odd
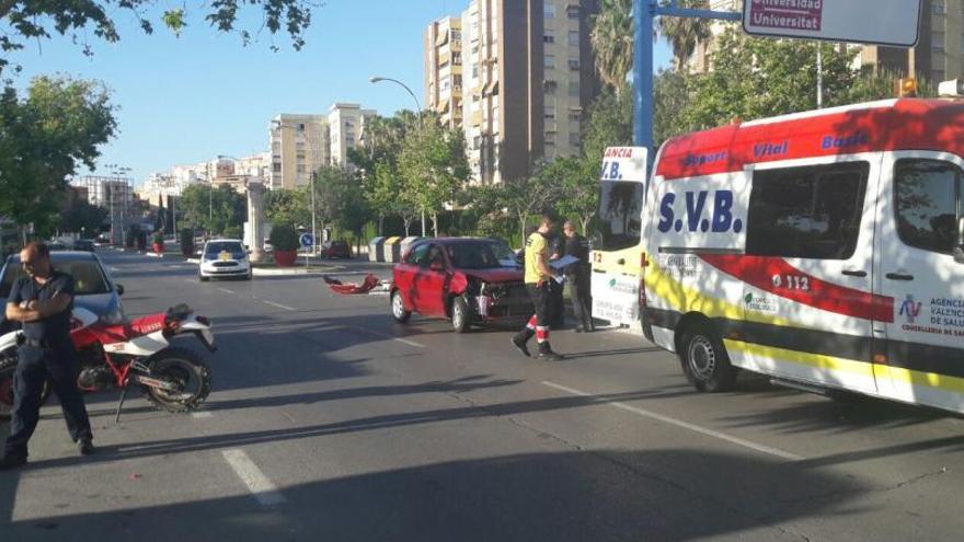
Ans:
[{"label": "right-hand wheel of the red and white motorcycle", "polygon": [[173,383],[175,390],[142,387],[145,396],[158,410],[190,412],[210,393],[210,369],[192,350],[165,348],[148,362],[150,377]]}]

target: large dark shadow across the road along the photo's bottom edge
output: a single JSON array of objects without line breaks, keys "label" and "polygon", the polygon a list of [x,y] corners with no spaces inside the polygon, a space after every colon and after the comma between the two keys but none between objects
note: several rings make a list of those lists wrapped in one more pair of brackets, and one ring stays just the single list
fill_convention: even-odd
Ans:
[{"label": "large dark shadow across the road along the photo's bottom edge", "polygon": [[[119,487],[117,501],[134,487]],[[240,481],[229,491],[243,492]],[[815,534],[795,530],[807,518],[820,518],[810,526],[819,529],[828,517],[861,511],[853,501],[867,491],[860,481],[758,455],[578,451],[305,481],[282,487],[286,503],[276,507],[241,493],[12,523],[7,516],[0,529],[18,542],[134,533],[144,541],[679,541],[750,530],[760,540],[793,540]]]}]

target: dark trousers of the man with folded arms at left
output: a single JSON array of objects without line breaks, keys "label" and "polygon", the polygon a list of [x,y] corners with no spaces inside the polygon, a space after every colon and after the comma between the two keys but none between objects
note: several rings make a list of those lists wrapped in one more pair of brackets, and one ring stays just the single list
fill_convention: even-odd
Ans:
[{"label": "dark trousers of the man with folded arms at left", "polygon": [[47,378],[60,400],[64,419],[70,438],[78,441],[90,438],[90,420],[83,397],[77,389],[77,361],[73,353],[62,348],[22,346],[18,350],[16,372],[13,377],[13,411],[7,454],[26,454],[26,443],[41,417],[41,394]]}]

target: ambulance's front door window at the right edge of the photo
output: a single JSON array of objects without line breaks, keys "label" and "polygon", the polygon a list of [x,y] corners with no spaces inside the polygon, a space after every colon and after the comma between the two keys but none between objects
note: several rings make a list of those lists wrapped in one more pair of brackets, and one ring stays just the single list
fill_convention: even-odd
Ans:
[{"label": "ambulance's front door window at the right edge of the photo", "polygon": [[942,160],[898,160],[894,168],[897,233],[908,246],[951,254],[962,214],[961,168]]}]

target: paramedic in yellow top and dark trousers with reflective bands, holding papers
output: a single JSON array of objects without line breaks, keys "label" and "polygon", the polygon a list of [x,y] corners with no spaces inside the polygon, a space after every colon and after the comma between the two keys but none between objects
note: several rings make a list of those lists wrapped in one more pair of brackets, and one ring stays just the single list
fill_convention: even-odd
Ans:
[{"label": "paramedic in yellow top and dark trousers with reflective bands, holding papers", "polygon": [[549,237],[554,223],[552,217],[543,215],[539,219],[539,229],[526,239],[525,268],[526,291],[536,308],[536,314],[523,331],[515,334],[513,345],[526,356],[530,356],[526,344],[536,336],[539,343],[539,359],[559,360],[562,356],[552,351],[549,346],[549,288],[553,280],[552,270],[549,268]]}]

